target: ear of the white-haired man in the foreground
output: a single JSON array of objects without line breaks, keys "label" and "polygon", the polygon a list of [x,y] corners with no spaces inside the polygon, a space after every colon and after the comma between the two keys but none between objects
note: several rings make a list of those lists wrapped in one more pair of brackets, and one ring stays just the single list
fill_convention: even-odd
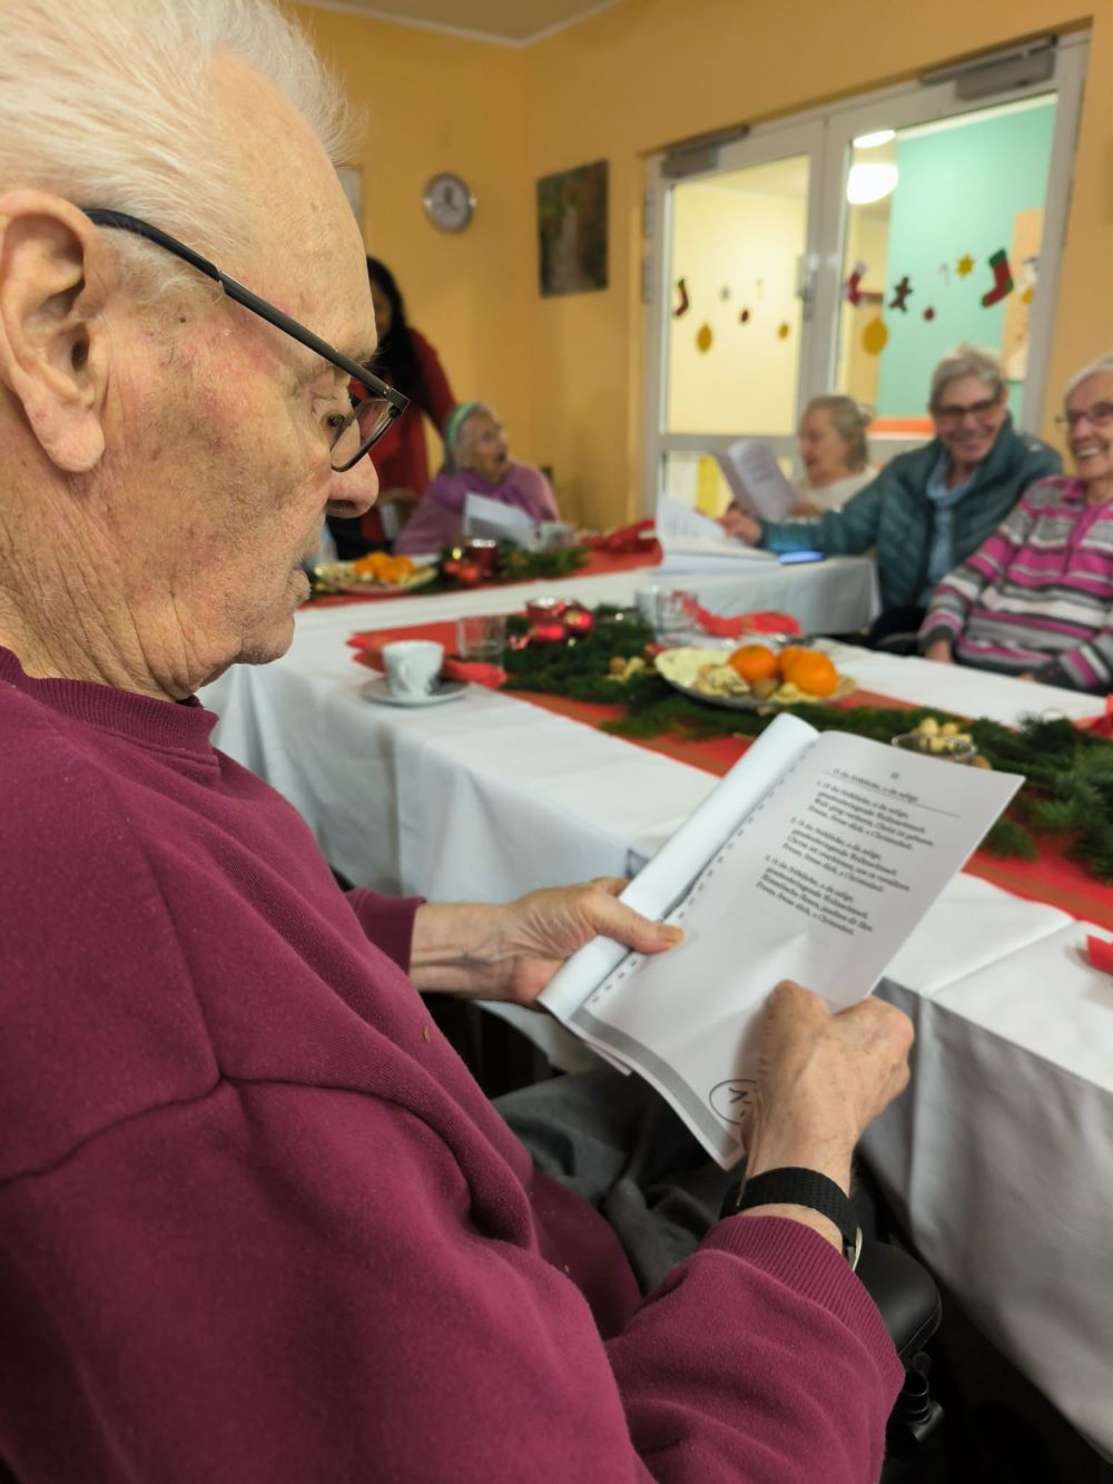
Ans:
[{"label": "ear of the white-haired man in the foreground", "polygon": [[70,202],[33,190],[0,197],[0,386],[67,473],[104,454],[104,261],[96,227]]}]

